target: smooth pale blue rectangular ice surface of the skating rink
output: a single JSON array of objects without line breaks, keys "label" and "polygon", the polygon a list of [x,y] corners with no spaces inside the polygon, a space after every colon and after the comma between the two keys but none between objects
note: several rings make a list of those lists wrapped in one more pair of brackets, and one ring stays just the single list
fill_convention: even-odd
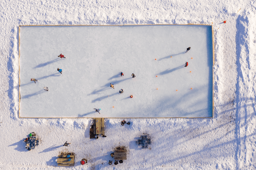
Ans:
[{"label": "smooth pale blue rectangular ice surface of the skating rink", "polygon": [[212,55],[212,26],[20,26],[20,117],[212,117]]}]

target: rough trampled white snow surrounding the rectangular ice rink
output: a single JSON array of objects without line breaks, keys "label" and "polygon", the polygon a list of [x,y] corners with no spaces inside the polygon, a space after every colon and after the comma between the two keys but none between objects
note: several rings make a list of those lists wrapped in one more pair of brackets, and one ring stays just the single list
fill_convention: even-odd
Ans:
[{"label": "rough trampled white snow surrounding the rectangular ice rink", "polygon": [[[1,1],[0,14],[1,169],[256,168],[254,0]],[[106,119],[107,137],[97,141],[89,139],[91,119],[19,118],[19,25],[188,23],[213,25],[213,118],[129,119],[124,127],[121,119]],[[26,151],[22,140],[30,132],[40,144]],[[143,134],[152,138],[149,149],[136,145]],[[67,140],[71,144],[64,148]],[[128,148],[128,158],[109,166],[109,154],[119,145]],[[56,156],[66,150],[77,163],[56,167]],[[83,158],[87,165],[80,165]]]}]

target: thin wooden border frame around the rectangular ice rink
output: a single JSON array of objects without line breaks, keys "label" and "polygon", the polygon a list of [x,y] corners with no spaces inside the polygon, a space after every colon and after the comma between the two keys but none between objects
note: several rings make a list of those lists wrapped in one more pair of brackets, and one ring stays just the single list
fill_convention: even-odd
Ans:
[{"label": "thin wooden border frame around the rectangular ice rink", "polygon": [[212,31],[212,117],[104,117],[107,119],[138,119],[138,118],[144,118],[144,119],[166,119],[166,118],[182,118],[182,119],[206,119],[206,118],[213,118],[214,114],[214,92],[213,92],[213,83],[214,83],[214,78],[213,78],[213,66],[214,66],[214,30],[212,25],[208,24],[123,24],[123,25],[19,25],[19,118],[31,118],[31,119],[36,119],[36,118],[43,118],[43,119],[92,119],[94,117],[20,117],[20,27],[21,26],[152,26],[152,25],[178,25],[178,26],[185,26],[185,25],[201,25],[201,26],[211,26],[211,31]]}]

